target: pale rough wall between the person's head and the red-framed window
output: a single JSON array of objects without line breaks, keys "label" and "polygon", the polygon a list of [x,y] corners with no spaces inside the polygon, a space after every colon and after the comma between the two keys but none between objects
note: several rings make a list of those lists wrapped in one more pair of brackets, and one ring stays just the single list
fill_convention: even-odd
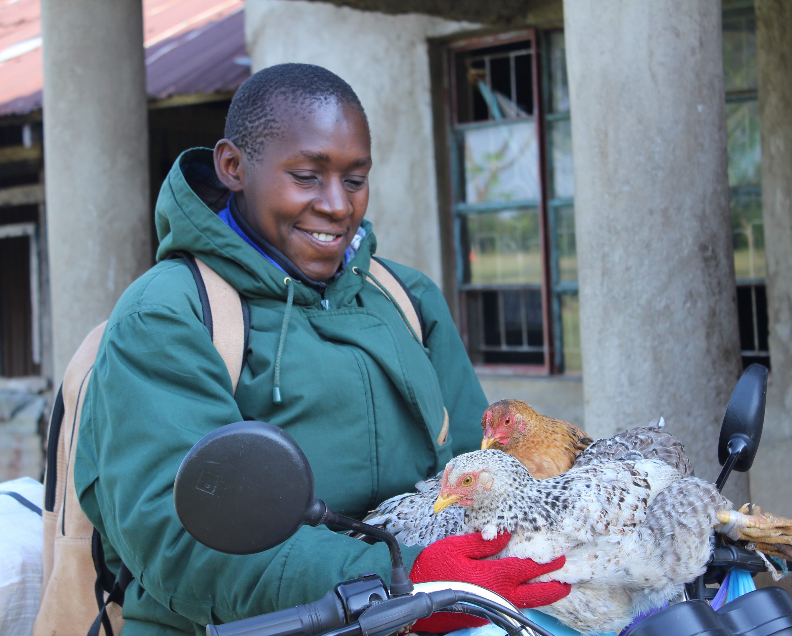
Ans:
[{"label": "pale rough wall between the person's head and the red-framed window", "polygon": [[248,0],[253,71],[282,62],[325,66],[355,89],[371,125],[377,253],[442,284],[427,38],[473,28],[303,0]]}]

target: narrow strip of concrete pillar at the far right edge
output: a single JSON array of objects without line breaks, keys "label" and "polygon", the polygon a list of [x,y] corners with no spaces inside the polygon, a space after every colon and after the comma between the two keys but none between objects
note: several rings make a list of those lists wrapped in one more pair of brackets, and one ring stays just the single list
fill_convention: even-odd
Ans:
[{"label": "narrow strip of concrete pillar at the far right edge", "polygon": [[792,2],[756,0],[756,47],[772,373],[751,489],[782,513],[792,509]]}]

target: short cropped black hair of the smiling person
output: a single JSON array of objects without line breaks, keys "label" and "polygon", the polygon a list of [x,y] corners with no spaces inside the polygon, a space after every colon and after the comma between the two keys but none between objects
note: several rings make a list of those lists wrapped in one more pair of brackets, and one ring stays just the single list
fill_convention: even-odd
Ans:
[{"label": "short cropped black hair of the smiling person", "polygon": [[251,75],[239,87],[226,118],[225,137],[250,161],[284,131],[284,115],[335,101],[366,116],[352,86],[314,64],[277,64]]}]

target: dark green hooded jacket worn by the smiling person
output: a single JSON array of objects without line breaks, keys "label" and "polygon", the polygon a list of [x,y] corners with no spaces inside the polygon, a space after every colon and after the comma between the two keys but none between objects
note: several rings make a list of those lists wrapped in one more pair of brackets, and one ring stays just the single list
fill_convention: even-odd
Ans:
[{"label": "dark green hooded jacket worn by the smiling person", "polygon": [[[248,556],[192,539],[173,508],[173,481],[192,445],[219,426],[253,419],[282,427],[310,461],[317,496],[356,518],[481,441],[487,403],[440,290],[424,274],[386,262],[417,299],[425,350],[388,298],[352,272],[367,269],[375,252],[368,221],[356,256],[326,290],[328,310],[295,282],[283,403],[273,403],[284,274],[217,217],[227,197],[211,150],[179,157],[157,202],[158,263],[118,301],[87,388],[74,481],[109,566],[123,561],[135,577],[125,636],[204,634],[208,623],[318,600],[364,572],[388,581],[385,544],[323,527],[303,527]],[[179,250],[199,256],[249,302],[249,349],[235,396],[192,274],[182,259],[166,259]],[[450,427],[438,445],[444,407]],[[419,551],[404,548],[408,569]]]}]

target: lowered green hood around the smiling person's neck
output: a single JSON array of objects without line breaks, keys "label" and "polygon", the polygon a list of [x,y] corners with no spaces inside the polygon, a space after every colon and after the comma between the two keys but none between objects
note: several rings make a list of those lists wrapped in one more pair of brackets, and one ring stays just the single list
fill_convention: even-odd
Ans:
[{"label": "lowered green hood around the smiling person's neck", "polygon": [[[230,191],[215,174],[212,151],[186,150],[177,158],[160,188],[155,210],[160,241],[157,261],[173,252],[190,252],[207,263],[236,290],[247,297],[285,298],[284,273],[246,244],[217,213],[226,204]],[[364,285],[364,277],[352,273],[352,266],[368,269],[375,253],[376,238],[371,223],[361,226],[367,236],[360,243],[347,269],[326,290],[333,307],[347,305]],[[298,305],[318,305],[319,294],[295,281]]]}]

